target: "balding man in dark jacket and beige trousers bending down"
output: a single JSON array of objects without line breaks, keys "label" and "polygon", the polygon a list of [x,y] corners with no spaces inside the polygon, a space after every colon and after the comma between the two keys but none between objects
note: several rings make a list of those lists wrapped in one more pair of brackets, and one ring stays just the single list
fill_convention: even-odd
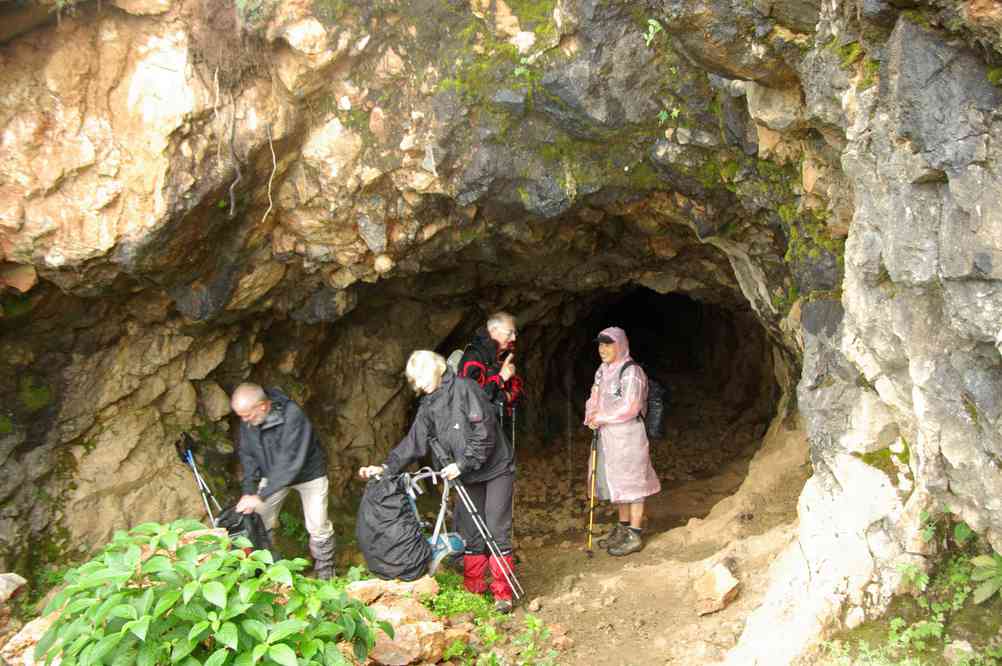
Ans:
[{"label": "balding man in dark jacket and beige trousers bending down", "polygon": [[317,578],[334,577],[334,526],[327,517],[327,455],[303,409],[278,389],[241,384],[230,407],[240,418],[242,492],[236,511],[275,529],[290,490],[300,494]]}]

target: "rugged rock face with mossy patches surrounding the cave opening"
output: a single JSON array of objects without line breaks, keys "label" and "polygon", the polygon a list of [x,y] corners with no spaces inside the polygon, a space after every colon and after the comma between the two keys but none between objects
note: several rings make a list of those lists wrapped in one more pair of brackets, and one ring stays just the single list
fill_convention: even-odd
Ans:
[{"label": "rugged rock face with mossy patches surrounding the cave opening", "polygon": [[880,612],[926,509],[1002,548],[994,4],[0,8],[0,568],[189,513],[170,443],[227,453],[241,379],[344,486],[411,350],[505,307],[543,387],[628,285],[754,313],[800,380],[801,536],[734,663]]}]

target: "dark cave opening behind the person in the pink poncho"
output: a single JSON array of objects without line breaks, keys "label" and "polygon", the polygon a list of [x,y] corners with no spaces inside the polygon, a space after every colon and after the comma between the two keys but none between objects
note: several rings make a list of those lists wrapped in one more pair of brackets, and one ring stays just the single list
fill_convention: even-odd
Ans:
[{"label": "dark cave opening behind the person in the pink poncho", "polygon": [[[467,316],[463,334],[439,351],[447,355],[482,321],[481,312]],[[592,341],[609,325],[626,331],[631,357],[666,389],[664,435],[651,441],[662,486],[647,505],[652,531],[701,518],[735,492],[776,415],[782,390],[773,344],[744,301],[626,284],[576,294],[570,309],[565,302],[520,320],[516,355],[527,394],[514,433],[515,529],[529,544],[581,533],[590,446],[581,423],[599,365]],[[697,498],[675,497],[693,483]],[[599,509],[599,520],[613,515],[612,507]]]}]

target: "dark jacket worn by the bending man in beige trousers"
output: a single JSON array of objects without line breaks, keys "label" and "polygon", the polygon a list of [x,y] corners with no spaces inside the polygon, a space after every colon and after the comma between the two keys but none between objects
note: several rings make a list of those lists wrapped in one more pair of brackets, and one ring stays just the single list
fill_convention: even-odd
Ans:
[{"label": "dark jacket worn by the bending man in beige trousers", "polygon": [[[327,454],[303,409],[278,389],[267,389],[272,410],[261,426],[240,424],[244,495],[263,500],[283,488],[327,476]],[[268,486],[259,492],[262,479]]]}]

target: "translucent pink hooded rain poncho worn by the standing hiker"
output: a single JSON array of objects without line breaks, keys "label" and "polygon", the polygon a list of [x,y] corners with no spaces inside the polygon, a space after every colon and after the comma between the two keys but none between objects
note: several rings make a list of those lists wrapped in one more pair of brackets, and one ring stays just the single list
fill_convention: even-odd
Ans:
[{"label": "translucent pink hooded rain poncho worn by the standing hiker", "polygon": [[661,490],[640,418],[647,404],[647,377],[633,365],[623,372],[620,386],[619,371],[630,361],[626,332],[613,326],[599,336],[614,341],[616,357],[598,367],[584,406],[585,425],[598,426],[596,491],[602,500],[637,502]]}]

